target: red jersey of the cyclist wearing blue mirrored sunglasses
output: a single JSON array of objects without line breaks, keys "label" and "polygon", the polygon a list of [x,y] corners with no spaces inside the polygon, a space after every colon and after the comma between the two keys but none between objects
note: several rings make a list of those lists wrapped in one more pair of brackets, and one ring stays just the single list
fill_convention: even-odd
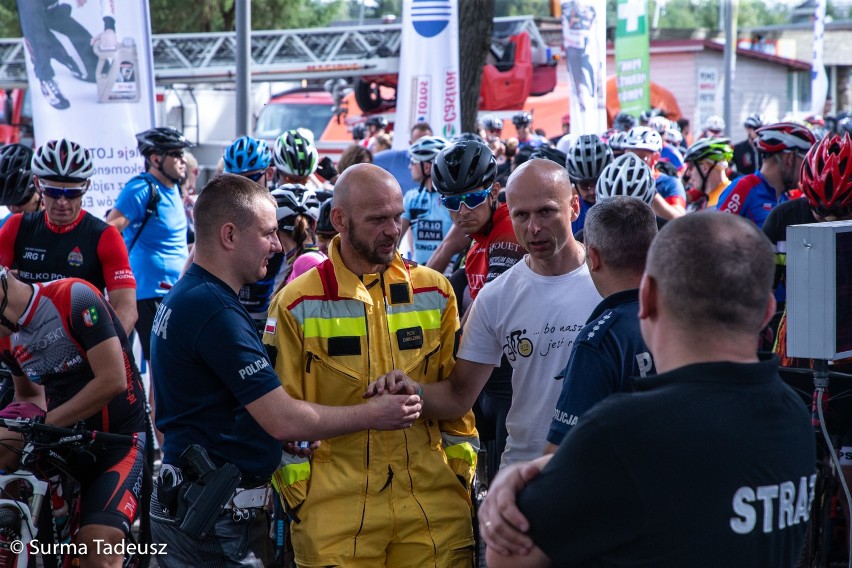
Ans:
[{"label": "red jersey of the cyclist wearing blue mirrored sunglasses", "polygon": [[518,244],[509,208],[501,203],[491,217],[491,230],[487,233],[474,233],[473,245],[465,260],[467,284],[470,297],[476,295],[485,286],[524,258],[526,250]]}]

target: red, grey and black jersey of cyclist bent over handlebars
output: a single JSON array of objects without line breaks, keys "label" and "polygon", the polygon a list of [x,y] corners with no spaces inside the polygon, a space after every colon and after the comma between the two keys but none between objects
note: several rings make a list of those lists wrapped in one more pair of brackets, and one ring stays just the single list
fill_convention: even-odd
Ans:
[{"label": "red, grey and black jersey of cyclist bent over handlebars", "polygon": [[47,409],[64,404],[94,378],[88,352],[118,337],[125,388],[84,419],[86,428],[130,434],[145,430],[145,395],[124,328],[94,286],[77,278],[35,284],[21,329],[0,339],[0,358],[12,374],[44,387]]}]

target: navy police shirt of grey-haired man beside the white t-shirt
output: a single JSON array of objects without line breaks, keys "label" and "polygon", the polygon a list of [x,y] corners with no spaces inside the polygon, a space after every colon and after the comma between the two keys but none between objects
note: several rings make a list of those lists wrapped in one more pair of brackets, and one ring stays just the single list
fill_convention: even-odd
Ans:
[{"label": "navy police shirt of grey-haired man beside the white t-shirt", "polygon": [[577,334],[547,441],[561,444],[586,411],[613,393],[632,392],[631,377],[653,374],[639,328],[639,290],[607,296]]}]

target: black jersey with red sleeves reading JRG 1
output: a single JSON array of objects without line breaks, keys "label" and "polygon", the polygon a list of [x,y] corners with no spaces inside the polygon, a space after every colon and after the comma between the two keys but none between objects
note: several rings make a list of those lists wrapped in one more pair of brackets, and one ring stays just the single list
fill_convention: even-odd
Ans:
[{"label": "black jersey with red sleeves reading JRG 1", "polygon": [[98,290],[136,287],[121,235],[86,211],[61,226],[41,211],[13,215],[0,229],[0,264],[24,282],[82,278]]}]

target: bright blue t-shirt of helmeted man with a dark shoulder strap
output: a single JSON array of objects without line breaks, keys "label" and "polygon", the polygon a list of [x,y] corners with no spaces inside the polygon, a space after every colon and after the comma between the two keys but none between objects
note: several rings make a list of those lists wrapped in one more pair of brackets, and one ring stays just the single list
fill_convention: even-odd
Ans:
[{"label": "bright blue t-shirt of helmeted man with a dark shoulder strap", "polygon": [[160,193],[157,214],[151,215],[142,233],[129,250],[130,268],[136,277],[136,299],[145,300],[166,295],[177,282],[189,256],[186,246],[186,212],[177,185],[166,187],[151,174],[141,174],[122,188],[115,208],[127,217],[130,224],[124,229],[124,244],[130,249],[136,233],[145,219],[148,196],[147,181],[155,184]]}]

